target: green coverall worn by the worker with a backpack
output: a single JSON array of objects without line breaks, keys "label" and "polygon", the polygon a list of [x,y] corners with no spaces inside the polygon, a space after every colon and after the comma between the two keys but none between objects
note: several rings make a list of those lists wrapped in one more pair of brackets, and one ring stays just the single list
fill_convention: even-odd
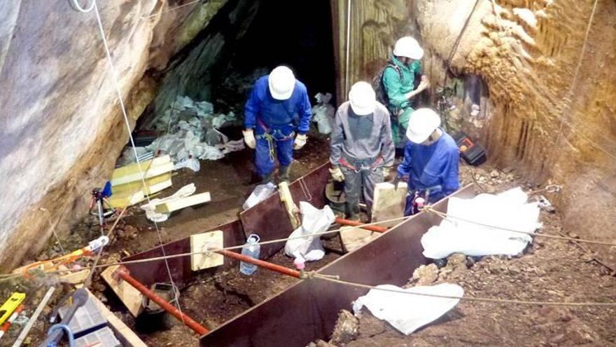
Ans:
[{"label": "green coverall worn by the worker with a backpack", "polygon": [[[419,60],[414,60],[414,62],[408,66],[402,64],[402,62],[394,56],[391,57],[391,61],[396,64],[400,72],[402,72],[402,79],[400,79],[400,72],[396,71],[396,69],[391,66],[386,67],[383,71],[383,86],[388,98],[389,111],[393,114],[391,122],[393,142],[396,148],[402,148],[406,143],[405,138],[409,119],[414,111],[411,107],[411,102],[405,97],[405,94],[415,89],[415,74],[421,75],[421,62],[419,62]],[[396,117],[397,114],[400,114],[400,116]]]}]

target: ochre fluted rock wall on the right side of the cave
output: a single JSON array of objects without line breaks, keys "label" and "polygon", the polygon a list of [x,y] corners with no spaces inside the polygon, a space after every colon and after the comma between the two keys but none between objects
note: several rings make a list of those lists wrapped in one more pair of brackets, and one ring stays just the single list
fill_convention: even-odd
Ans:
[{"label": "ochre fluted rock wall on the right side of the cave", "polygon": [[[493,108],[482,142],[491,161],[515,168],[538,184],[562,184],[563,192],[548,198],[564,217],[564,231],[613,242],[616,2],[596,1],[582,54],[594,3],[479,0],[451,69],[479,74],[489,89]],[[339,100],[346,99],[347,5],[332,1],[340,34]],[[426,48],[423,63],[435,90],[443,81],[444,60],[473,6],[475,1],[470,0],[351,1],[348,85],[370,81],[395,39],[412,34]],[[616,265],[614,250],[596,250],[604,261]]]}]

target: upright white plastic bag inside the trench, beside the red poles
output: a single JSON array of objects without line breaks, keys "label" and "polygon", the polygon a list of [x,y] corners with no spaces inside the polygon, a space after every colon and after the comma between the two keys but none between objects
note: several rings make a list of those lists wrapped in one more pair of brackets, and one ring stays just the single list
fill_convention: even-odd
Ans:
[{"label": "upright white plastic bag inside the trench, beside the red poles", "polygon": [[[289,238],[322,233],[336,219],[334,212],[332,212],[328,205],[325,205],[322,210],[318,210],[313,205],[300,201],[300,211],[302,212],[302,225],[295,229]],[[325,256],[321,236],[288,240],[284,246],[284,252],[289,257],[299,258],[304,261],[316,261]]]}]

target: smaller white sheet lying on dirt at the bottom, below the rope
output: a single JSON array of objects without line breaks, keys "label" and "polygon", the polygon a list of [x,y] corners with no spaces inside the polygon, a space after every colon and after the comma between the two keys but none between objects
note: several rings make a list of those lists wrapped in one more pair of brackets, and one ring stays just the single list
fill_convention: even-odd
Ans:
[{"label": "smaller white sheet lying on dirt at the bottom, below the rope", "polygon": [[[387,290],[403,290],[410,293],[435,294],[447,297],[462,297],[464,290],[459,285],[441,283],[433,286],[419,286],[402,289],[395,285],[377,285],[377,288]],[[353,301],[353,312],[358,314],[366,306],[374,317],[386,320],[403,334],[410,334],[416,329],[436,320],[447,311],[454,308],[460,299],[426,297],[388,292],[385,290],[370,290],[368,294]]]}]

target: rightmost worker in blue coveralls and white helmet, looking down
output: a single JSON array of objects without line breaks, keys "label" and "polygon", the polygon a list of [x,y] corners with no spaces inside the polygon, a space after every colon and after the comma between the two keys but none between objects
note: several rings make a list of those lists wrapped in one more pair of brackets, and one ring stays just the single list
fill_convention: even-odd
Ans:
[{"label": "rightmost worker in blue coveralls and white helmet, looking down", "polygon": [[400,180],[408,182],[405,216],[416,212],[416,205],[435,203],[460,187],[458,146],[447,132],[440,128],[440,116],[433,109],[417,109],[409,121],[406,132],[404,160],[398,165]]}]

